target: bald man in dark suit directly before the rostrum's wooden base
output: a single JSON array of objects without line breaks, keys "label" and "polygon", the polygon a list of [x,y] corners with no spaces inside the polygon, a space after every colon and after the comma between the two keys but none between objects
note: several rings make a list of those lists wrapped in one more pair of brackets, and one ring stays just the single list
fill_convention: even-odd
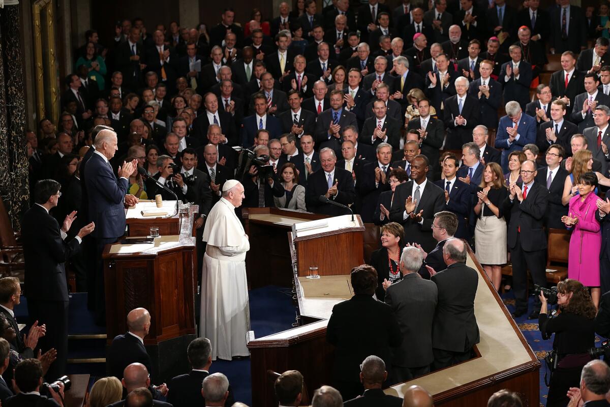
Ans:
[{"label": "bald man in dark suit directly before the rostrum's wooden base", "polygon": [[151,326],[151,315],[144,308],[127,314],[127,333],[112,340],[106,361],[111,376],[123,377],[123,370],[132,363],[141,363],[151,372],[151,358],[144,347],[144,337]]}]

